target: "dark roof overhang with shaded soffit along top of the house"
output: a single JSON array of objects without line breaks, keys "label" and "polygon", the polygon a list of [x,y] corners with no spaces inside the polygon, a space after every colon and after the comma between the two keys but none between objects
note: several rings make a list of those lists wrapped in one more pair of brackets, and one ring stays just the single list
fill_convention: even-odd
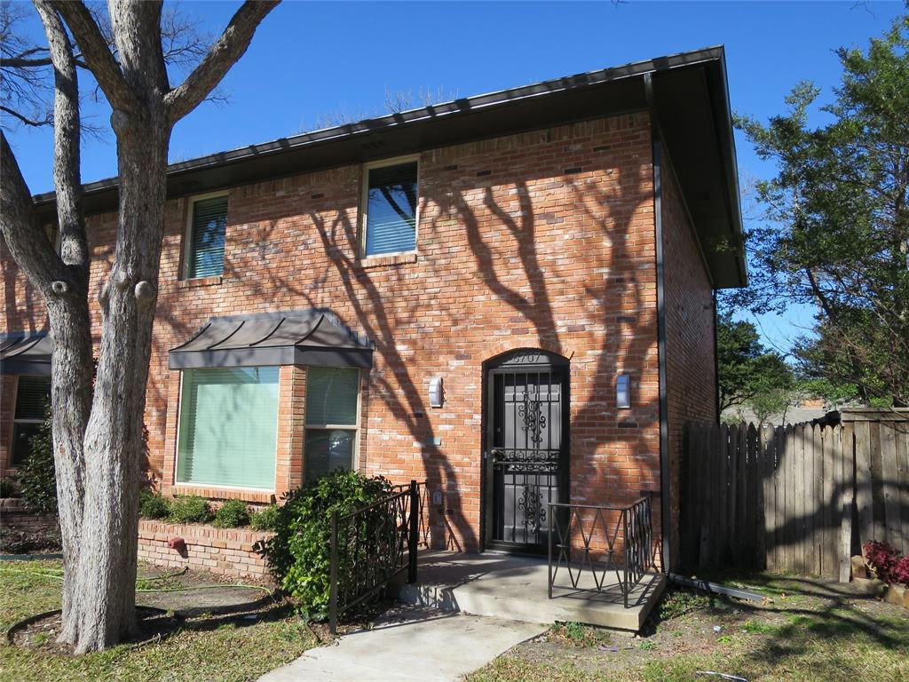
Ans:
[{"label": "dark roof overhang with shaded soffit along top of the house", "polygon": [[[173,164],[171,198],[379,158],[648,110],[644,76],[652,76],[658,124],[714,286],[747,280],[732,115],[722,46],[566,76],[399,114],[283,137]],[[116,208],[117,181],[85,186],[88,214]],[[54,219],[53,193],[35,196]]]}]

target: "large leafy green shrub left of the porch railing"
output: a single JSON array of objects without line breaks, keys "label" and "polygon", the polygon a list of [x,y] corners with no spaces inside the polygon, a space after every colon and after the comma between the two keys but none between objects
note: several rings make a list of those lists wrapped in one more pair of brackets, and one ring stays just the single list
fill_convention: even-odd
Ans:
[{"label": "large leafy green shrub left of the porch railing", "polygon": [[[285,505],[276,512],[275,537],[257,549],[305,617],[325,617],[328,611],[332,512],[347,514],[390,491],[382,476],[338,470],[285,495]],[[339,576],[350,571],[342,565]]]}]

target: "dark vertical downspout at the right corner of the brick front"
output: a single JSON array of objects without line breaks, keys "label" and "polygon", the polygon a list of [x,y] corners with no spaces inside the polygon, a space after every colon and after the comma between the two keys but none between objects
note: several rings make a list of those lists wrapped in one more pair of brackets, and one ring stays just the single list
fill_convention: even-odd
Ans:
[{"label": "dark vertical downspout at the right corner of the brick front", "polygon": [[654,234],[656,238],[656,346],[660,378],[660,529],[664,572],[672,570],[672,517],[669,508],[669,398],[666,394],[666,306],[663,275],[663,138],[654,103],[654,81],[644,74],[644,94],[650,114],[650,137],[654,155]]}]

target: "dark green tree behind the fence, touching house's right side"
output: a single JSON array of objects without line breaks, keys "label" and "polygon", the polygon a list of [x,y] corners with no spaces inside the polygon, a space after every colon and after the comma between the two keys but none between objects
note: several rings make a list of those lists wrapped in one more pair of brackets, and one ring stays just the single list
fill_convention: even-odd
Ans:
[{"label": "dark green tree behind the fence, touching house's right side", "polygon": [[793,385],[792,370],[783,356],[764,347],[751,322],[733,320],[728,314],[718,316],[716,356],[720,412]]}]

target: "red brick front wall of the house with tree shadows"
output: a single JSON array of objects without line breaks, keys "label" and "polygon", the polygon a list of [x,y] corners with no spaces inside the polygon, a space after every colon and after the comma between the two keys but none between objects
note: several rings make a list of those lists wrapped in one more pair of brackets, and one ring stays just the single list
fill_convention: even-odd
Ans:
[{"label": "red brick front wall of the house with tree shadows", "polygon": [[[189,202],[168,203],[145,411],[151,470],[165,490],[174,476],[179,396],[168,349],[209,316],[317,306],[375,341],[361,468],[399,481],[428,478],[430,490],[443,489],[465,547],[479,544],[482,364],[506,350],[540,347],[571,360],[575,502],[616,503],[657,489],[647,115],[422,153],[417,256],[357,256],[360,179],[361,167],[350,165],[231,189],[225,274],[205,281],[179,280]],[[95,291],[108,271],[115,216],[90,223]],[[34,305],[27,287],[16,280],[13,288],[8,329],[26,325]],[[93,316],[97,337],[95,304]],[[620,413],[614,380],[621,373],[633,377],[634,406]],[[428,406],[431,376],[445,379],[442,408]],[[302,392],[291,391],[299,401],[291,407],[295,428]],[[434,437],[440,446],[425,445]],[[279,434],[279,445],[296,464],[279,462],[278,471],[294,482],[302,434]]]}]

